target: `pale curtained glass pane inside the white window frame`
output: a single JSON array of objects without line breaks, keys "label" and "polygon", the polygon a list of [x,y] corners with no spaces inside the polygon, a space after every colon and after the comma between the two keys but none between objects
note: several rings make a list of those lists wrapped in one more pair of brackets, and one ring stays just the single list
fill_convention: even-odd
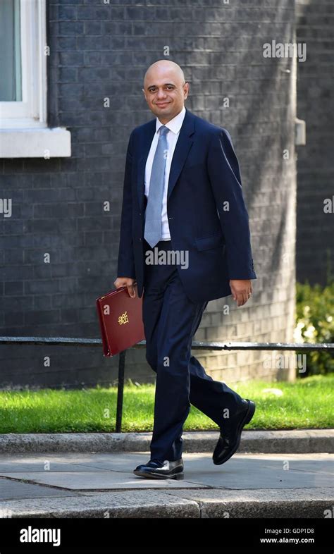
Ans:
[{"label": "pale curtained glass pane inside the white window frame", "polygon": [[20,0],[0,1],[0,101],[22,101]]}]

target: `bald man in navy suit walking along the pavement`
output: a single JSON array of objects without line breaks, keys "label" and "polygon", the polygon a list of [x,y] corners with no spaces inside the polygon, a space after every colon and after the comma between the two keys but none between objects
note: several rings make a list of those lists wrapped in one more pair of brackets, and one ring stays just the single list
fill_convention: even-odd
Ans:
[{"label": "bald man in navy suit walking along the pavement", "polygon": [[[185,109],[189,85],[172,61],[148,68],[143,92],[156,118],[130,135],[114,285],[135,297],[137,281],[146,358],[156,372],[151,459],[134,473],[183,479],[190,404],[220,428],[214,464],[235,453],[253,417],[254,402],[214,381],[190,350],[209,300],[233,295],[237,306],[244,305],[256,274],[228,131]],[[172,254],[179,261],[187,254],[187,264],[171,263]]]}]

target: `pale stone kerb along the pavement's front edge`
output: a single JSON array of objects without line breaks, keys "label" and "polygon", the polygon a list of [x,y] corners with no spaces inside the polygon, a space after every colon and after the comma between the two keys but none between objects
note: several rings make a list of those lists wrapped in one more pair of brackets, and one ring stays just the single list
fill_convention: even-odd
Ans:
[{"label": "pale stone kerb along the pavement's front edge", "polygon": [[29,498],[0,503],[5,517],[272,517],[333,515],[334,495],[326,488],[261,491],[113,491],[62,498]]}]

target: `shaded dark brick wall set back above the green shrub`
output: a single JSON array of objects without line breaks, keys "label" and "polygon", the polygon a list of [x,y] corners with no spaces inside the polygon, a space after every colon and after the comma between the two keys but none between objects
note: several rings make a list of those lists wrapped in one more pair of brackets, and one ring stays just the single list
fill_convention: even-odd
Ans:
[{"label": "shaded dark brick wall set back above the green shrub", "polygon": [[297,0],[296,29],[307,44],[307,61],[297,66],[298,117],[306,121],[307,144],[298,148],[297,279],[326,284],[334,274],[333,211],[333,25],[330,0]]}]

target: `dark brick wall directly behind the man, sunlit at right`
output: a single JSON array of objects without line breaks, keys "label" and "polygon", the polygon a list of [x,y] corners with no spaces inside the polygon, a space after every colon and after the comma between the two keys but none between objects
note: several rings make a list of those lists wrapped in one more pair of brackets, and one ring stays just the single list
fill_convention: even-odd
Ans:
[{"label": "dark brick wall directly behind the man, sunlit at right", "polygon": [[[1,221],[1,334],[99,336],[94,301],[116,278],[125,147],[132,128],[152,117],[144,71],[169,47],[166,58],[190,82],[187,107],[232,135],[258,276],[245,307],[230,298],[209,302],[195,340],[292,340],[295,61],[264,59],[262,51],[264,42],[294,39],[294,2],[180,6],[49,1],[49,123],[70,129],[73,155],[0,161],[3,195],[13,198],[13,216]],[[285,375],[266,369],[267,352],[194,353],[221,380]],[[71,347],[2,347],[0,356],[1,386],[107,384],[118,362]],[[127,368],[134,381],[154,381],[143,350],[128,353]]]}]

